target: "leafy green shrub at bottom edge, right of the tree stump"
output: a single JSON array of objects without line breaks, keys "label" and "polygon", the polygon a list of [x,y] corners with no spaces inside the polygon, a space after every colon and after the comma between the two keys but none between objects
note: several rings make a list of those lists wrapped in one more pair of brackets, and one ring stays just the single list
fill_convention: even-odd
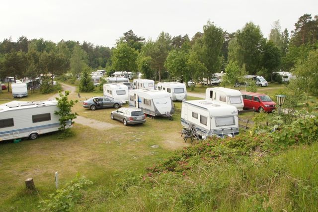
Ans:
[{"label": "leafy green shrub at bottom edge, right of the tree stump", "polygon": [[76,204],[83,196],[83,189],[92,185],[93,182],[79,175],[68,182],[64,188],[57,189],[54,194],[50,194],[50,199],[40,201],[40,211],[42,212],[65,212],[74,211]]}]

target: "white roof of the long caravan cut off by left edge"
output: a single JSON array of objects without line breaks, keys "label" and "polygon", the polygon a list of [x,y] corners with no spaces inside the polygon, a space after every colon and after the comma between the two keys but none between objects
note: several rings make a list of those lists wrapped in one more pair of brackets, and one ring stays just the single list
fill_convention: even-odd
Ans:
[{"label": "white roof of the long caravan cut off by left edge", "polygon": [[53,106],[57,105],[57,101],[41,101],[41,102],[26,102],[26,101],[12,101],[9,103],[4,103],[0,105],[0,112],[16,110],[16,109],[25,109],[38,106]]}]

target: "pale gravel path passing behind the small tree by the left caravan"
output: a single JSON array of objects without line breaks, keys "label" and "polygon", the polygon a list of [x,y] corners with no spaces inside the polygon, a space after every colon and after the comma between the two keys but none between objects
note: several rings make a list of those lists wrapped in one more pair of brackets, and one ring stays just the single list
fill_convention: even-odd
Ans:
[{"label": "pale gravel path passing behind the small tree by the left caravan", "polygon": [[[62,88],[64,91],[70,91],[70,93],[74,94],[76,92],[76,87],[75,86],[70,86],[64,83],[61,83]],[[51,100],[55,100],[56,97],[59,97],[59,94],[55,94],[53,95],[50,99]],[[102,122],[102,121],[98,121],[95,119],[91,119],[91,118],[85,118],[83,116],[78,115],[76,119],[74,119],[75,124],[79,123],[81,125],[84,126],[89,126],[91,128],[94,129],[99,129],[99,130],[105,130],[105,129],[110,129],[113,127],[118,127],[118,125],[115,124],[111,124],[111,123],[107,123],[107,122]]]}]

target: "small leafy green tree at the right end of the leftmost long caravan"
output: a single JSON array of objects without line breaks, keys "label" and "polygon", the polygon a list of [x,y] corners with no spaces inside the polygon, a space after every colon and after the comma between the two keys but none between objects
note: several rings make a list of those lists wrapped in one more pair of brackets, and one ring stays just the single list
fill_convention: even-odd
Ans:
[{"label": "small leafy green tree at the right end of the leftmost long caravan", "polygon": [[59,121],[61,124],[61,127],[59,129],[65,130],[68,128],[67,126],[74,123],[73,119],[76,118],[77,113],[72,112],[72,107],[75,103],[78,101],[68,100],[68,96],[70,95],[69,91],[65,91],[65,94],[63,95],[61,91],[59,91],[60,98],[56,98],[58,101],[58,111],[54,111],[54,114],[59,115]]}]

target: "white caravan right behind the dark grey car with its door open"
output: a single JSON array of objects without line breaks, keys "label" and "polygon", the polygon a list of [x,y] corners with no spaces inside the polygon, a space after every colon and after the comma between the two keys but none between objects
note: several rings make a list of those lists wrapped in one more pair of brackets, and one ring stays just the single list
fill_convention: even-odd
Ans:
[{"label": "white caravan right behind the dark grey car with its door open", "polygon": [[112,97],[125,104],[128,102],[128,86],[122,84],[104,84],[104,96]]}]

